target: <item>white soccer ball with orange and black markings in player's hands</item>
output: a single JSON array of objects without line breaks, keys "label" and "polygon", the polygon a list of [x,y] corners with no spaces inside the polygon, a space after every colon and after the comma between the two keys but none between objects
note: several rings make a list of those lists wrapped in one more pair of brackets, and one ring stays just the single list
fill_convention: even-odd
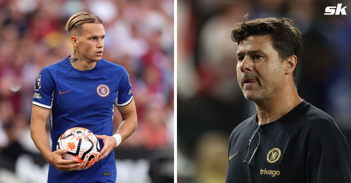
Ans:
[{"label": "white soccer ball with orange and black markings in player's hands", "polygon": [[91,167],[98,159],[100,145],[95,135],[86,128],[69,128],[57,141],[56,150],[69,149],[68,153],[62,154],[65,160],[77,159],[80,164],[79,170]]}]

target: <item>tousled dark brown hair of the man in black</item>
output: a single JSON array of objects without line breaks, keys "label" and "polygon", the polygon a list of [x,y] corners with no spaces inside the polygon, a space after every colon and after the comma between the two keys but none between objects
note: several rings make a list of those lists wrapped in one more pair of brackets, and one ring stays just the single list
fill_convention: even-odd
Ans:
[{"label": "tousled dark brown hair of the man in black", "polygon": [[[287,18],[261,18],[247,21],[247,13],[242,22],[232,27],[231,38],[238,45],[247,36],[253,35],[270,35],[272,46],[279,54],[280,60],[292,55],[296,55],[297,63],[299,63],[301,50],[301,32],[293,24],[293,21]],[[292,77],[296,85],[297,64],[293,71]]]}]

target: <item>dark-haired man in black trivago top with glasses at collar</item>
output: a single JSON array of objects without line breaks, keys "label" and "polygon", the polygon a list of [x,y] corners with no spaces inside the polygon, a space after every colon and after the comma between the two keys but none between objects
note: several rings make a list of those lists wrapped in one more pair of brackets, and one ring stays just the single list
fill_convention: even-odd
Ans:
[{"label": "dark-haired man in black trivago top with glasses at collar", "polygon": [[238,83],[257,114],[229,142],[226,183],[350,183],[350,149],[335,121],[297,94],[301,33],[289,19],[237,23]]}]

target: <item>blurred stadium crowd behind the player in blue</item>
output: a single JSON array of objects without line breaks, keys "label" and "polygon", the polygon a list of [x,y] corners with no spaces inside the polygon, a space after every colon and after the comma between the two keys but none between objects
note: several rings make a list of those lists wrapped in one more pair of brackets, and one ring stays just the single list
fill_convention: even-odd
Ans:
[{"label": "blurred stadium crowd behind the player in blue", "polygon": [[29,131],[34,82],[72,54],[64,29],[81,11],[103,20],[102,58],[124,66],[132,83],[138,129],[115,149],[118,182],[173,182],[173,0],[0,0],[0,182],[46,182],[48,163]]}]

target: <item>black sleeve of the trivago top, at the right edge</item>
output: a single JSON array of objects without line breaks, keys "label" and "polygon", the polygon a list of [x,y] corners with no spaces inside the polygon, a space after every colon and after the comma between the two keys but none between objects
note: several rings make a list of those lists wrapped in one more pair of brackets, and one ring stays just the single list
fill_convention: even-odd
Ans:
[{"label": "black sleeve of the trivago top, at the right edge", "polygon": [[334,121],[321,119],[307,143],[307,182],[350,183],[350,149]]}]

